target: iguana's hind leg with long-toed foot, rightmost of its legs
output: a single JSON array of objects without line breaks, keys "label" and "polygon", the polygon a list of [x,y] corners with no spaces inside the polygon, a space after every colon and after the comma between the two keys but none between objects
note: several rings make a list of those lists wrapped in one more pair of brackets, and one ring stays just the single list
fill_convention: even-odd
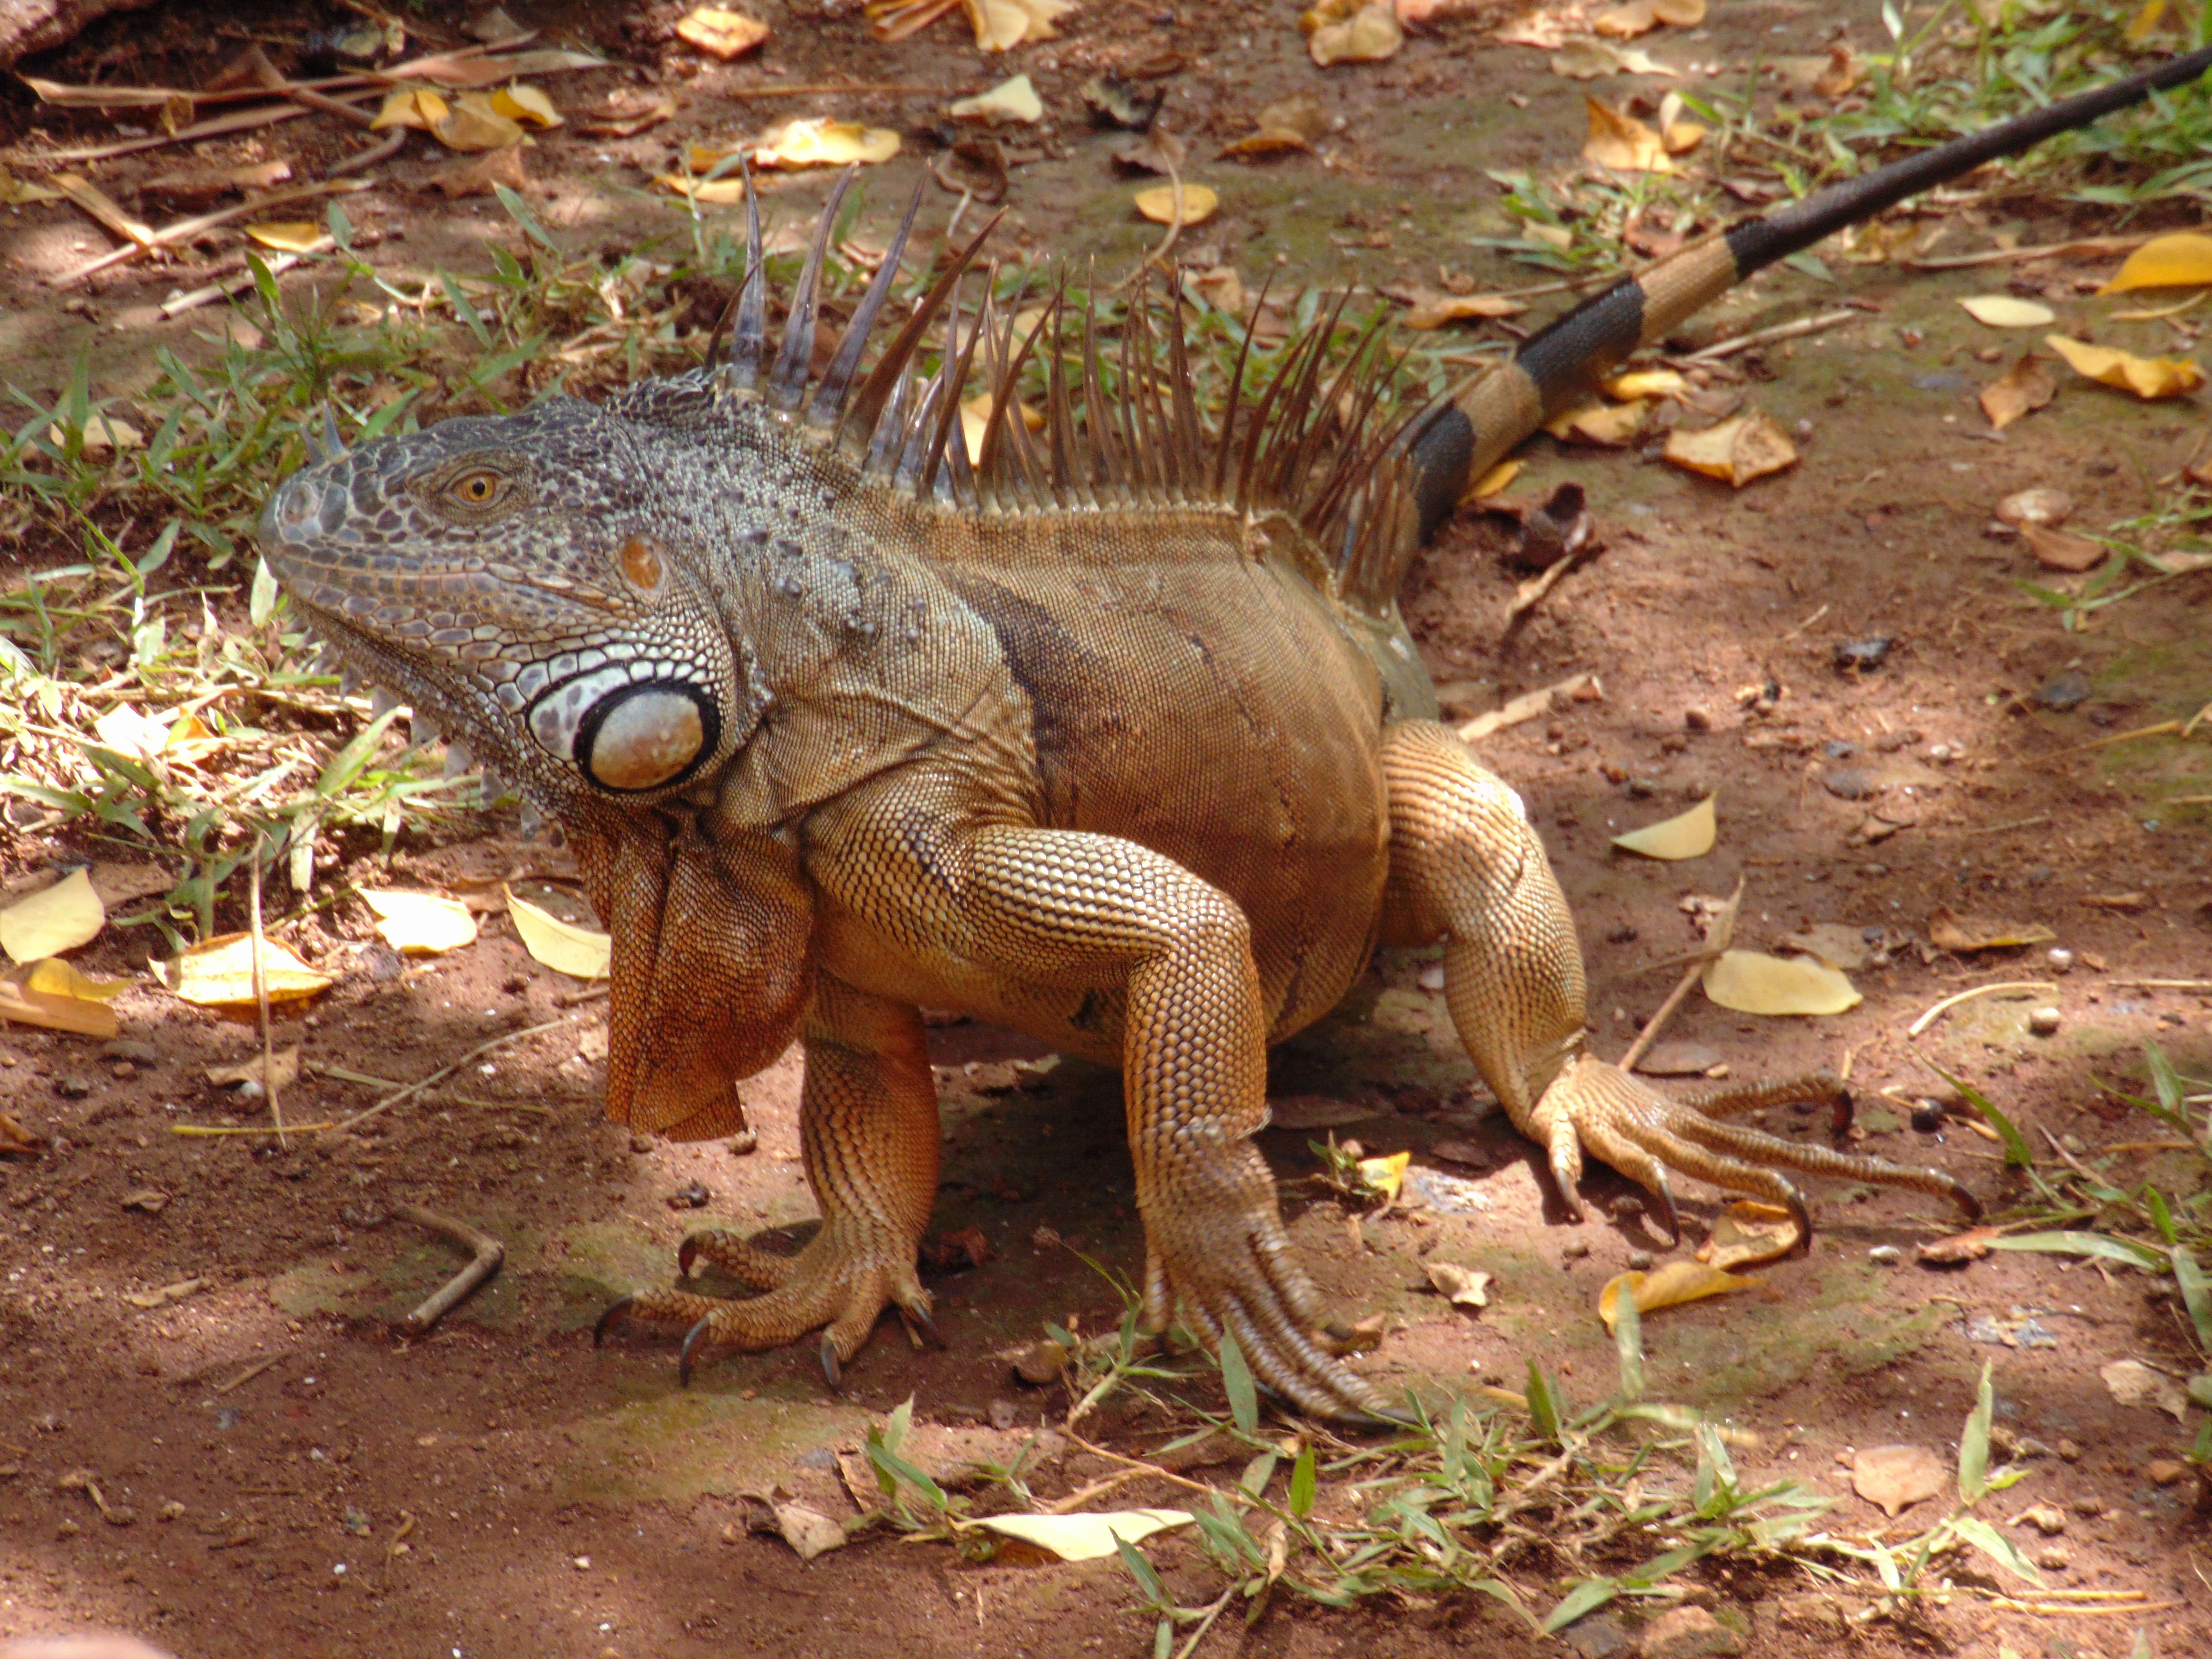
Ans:
[{"label": "iguana's hind leg with long-toed foot, rightmost of its legs", "polygon": [[1670,1099],[1586,1053],[1582,949],[1544,843],[1520,796],[1444,726],[1405,721],[1383,743],[1391,874],[1385,931],[1394,945],[1444,942],[1444,1002],[1475,1071],[1513,1126],[1542,1144],[1579,1214],[1582,1152],[1644,1186],[1674,1228],[1668,1170],[1754,1192],[1812,1223],[1778,1172],[1807,1170],[1980,1201],[1942,1170],[1801,1146],[1719,1119],[1796,1099],[1827,1102],[1838,1128],[1849,1097],[1827,1075],[1745,1084]]}]

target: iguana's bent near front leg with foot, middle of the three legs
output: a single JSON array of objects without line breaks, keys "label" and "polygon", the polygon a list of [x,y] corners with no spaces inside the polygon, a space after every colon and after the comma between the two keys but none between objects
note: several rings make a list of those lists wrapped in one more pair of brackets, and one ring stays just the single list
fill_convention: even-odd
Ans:
[{"label": "iguana's bent near front leg with foot, middle of the three legs", "polygon": [[[1283,1232],[1252,1135],[1267,1121],[1267,1015],[1252,933],[1221,889],[1119,836],[975,823],[953,781],[891,779],[810,830],[825,902],[945,982],[1113,991],[1152,1329],[1179,1296],[1252,1374],[1325,1416],[1383,1396],[1314,1332],[1321,1296]],[[827,960],[834,960],[834,951]]]}]

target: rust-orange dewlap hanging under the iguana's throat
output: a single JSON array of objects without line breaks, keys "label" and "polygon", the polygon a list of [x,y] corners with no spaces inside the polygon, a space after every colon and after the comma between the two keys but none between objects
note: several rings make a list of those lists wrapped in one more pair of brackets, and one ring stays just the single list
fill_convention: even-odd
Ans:
[{"label": "rust-orange dewlap hanging under the iguana's throat", "polygon": [[799,860],[765,838],[679,841],[659,821],[573,843],[615,938],[606,1115],[677,1141],[734,1135],[737,1079],[792,1044],[814,995]]}]

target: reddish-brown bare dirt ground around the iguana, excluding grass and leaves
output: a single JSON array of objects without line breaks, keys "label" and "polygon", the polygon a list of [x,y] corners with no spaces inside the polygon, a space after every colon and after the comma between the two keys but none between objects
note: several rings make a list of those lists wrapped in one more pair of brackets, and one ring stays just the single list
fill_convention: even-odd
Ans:
[{"label": "reddish-brown bare dirt ground around the iguana, excluding grass and leaves", "polygon": [[[956,22],[878,46],[858,7],[757,4],[776,38],[763,58],[732,66],[701,66],[664,44],[668,7],[507,9],[617,55],[617,69],[564,77],[564,102],[639,82],[679,93],[672,126],[637,139],[555,131],[529,157],[546,223],[608,246],[677,232],[679,215],[639,192],[641,175],[672,139],[757,126],[763,100],[748,102],[743,88],[854,77],[964,91],[1002,69],[982,64]],[[1840,22],[1871,44],[1876,11],[1721,0],[1690,42],[1730,62],[1776,38],[1818,51]],[[334,15],[170,0],[29,69],[195,84],[248,33],[296,40]],[[1411,40],[1389,64],[1323,73],[1305,60],[1292,15],[1285,4],[1088,0],[1064,40],[1018,51],[1006,73],[1029,71],[1053,119],[1024,135],[1037,155],[1013,170],[1009,246],[1126,259],[1157,237],[1121,208],[1128,181],[1106,159],[1115,137],[1071,111],[1095,69],[1175,51],[1186,62],[1168,108],[1199,153],[1290,91],[1316,93],[1340,117],[1321,157],[1194,164],[1230,212],[1186,232],[1201,243],[1186,248],[1192,263],[1248,276],[1267,265],[1323,276],[1352,263],[1376,285],[1438,263],[1486,285],[1524,279],[1464,246],[1500,223],[1484,168],[1568,166],[1582,84],[1551,75],[1540,53],[1489,42],[1475,18]],[[22,137],[31,108],[11,97],[0,119]],[[765,108],[927,133],[940,104],[841,95]],[[40,124],[60,142],[106,131],[100,117]],[[314,177],[352,146],[349,131],[310,119],[210,144],[201,159],[288,157]],[[905,199],[918,148],[885,170],[869,221]],[[170,159],[119,161],[100,179],[122,195]],[[372,170],[374,188],[349,197],[347,212],[411,265],[480,261],[478,243],[511,228],[495,206],[429,192],[431,166],[411,148]],[[779,179],[772,208],[810,217],[823,188],[821,177]],[[947,210],[936,195],[925,208]],[[2020,212],[2031,243],[2099,228],[2079,208]],[[1982,246],[1993,223],[1991,210],[1969,208],[1960,246]],[[7,378],[51,398],[75,354],[93,349],[102,385],[128,387],[150,378],[155,345],[197,349],[210,314],[161,323],[155,312],[170,288],[192,285],[190,263],[126,268],[66,307],[44,288],[104,246],[66,206],[0,217]],[[2064,325],[2110,263],[2035,265],[2033,285]],[[1582,482],[1604,555],[1566,577],[1511,650],[1500,637],[1513,575],[1480,518],[1451,526],[1407,588],[1453,712],[1575,670],[1599,675],[1601,697],[1562,701],[1484,743],[1531,801],[1575,905],[1599,1051],[1628,1044],[1674,980],[1666,962],[1697,947],[1683,900],[1725,896],[1741,874],[1741,942],[1767,947],[1814,922],[1880,940],[1878,964],[1854,975],[1865,1002],[1834,1018],[1750,1020],[1692,998],[1668,1040],[1712,1048],[1734,1075],[1847,1064],[1865,1150],[1947,1168],[1993,1210],[2022,1197],[2000,1148],[1955,1117],[1938,1133],[1909,1124],[1911,1102],[1936,1084],[1920,1055],[1986,1091],[2037,1152],[2057,1137],[2079,1157],[2159,1139],[2099,1093],[2099,1082],[2139,1086],[2130,1079],[2146,1037],[2183,1071],[2212,1068],[2212,995],[2141,984],[2212,975],[2208,810],[2168,805],[2203,799],[2205,745],[2081,748],[2188,719],[2212,697],[2212,575],[2064,633],[2015,584],[2039,577],[2022,544],[1986,535],[1993,504],[2037,484],[2073,493],[2079,524],[2095,529],[2146,511],[2157,480],[2203,440],[2205,409],[2201,398],[2137,405],[2075,383],[1989,440],[1973,392],[1993,374],[1975,361],[1991,336],[1953,299],[2000,283],[1975,270],[1843,261],[1834,285],[1796,272],[1752,283],[1714,321],[1750,330],[1838,299],[1863,307],[1858,321],[1747,365],[1750,398],[1796,434],[1803,465],[1728,491],[1637,451],[1537,438],[1515,498]],[[1876,635],[1893,641],[1887,661],[1838,672],[1836,648]],[[2066,675],[2084,677],[2088,695],[2055,708],[2068,701],[2051,692]],[[1739,697],[1770,681],[1778,701]],[[1610,847],[1610,834],[1714,790],[1721,838],[1710,856],[1661,865]],[[1874,814],[1909,827],[1867,841]],[[9,883],[88,856],[66,834],[15,834],[0,847]],[[409,834],[394,876],[434,889],[507,876],[580,914],[566,858],[515,838],[511,821],[447,845]],[[2090,902],[2126,894],[2141,898]],[[2051,973],[2042,947],[1978,958],[1916,949],[1942,907],[2055,929],[2075,956],[2057,995],[2044,998],[2062,1011],[2055,1033],[2031,1035],[2035,1002],[1989,998],[1907,1037],[1953,991]],[[717,1358],[679,1389],[670,1343],[624,1334],[595,1352],[593,1318],[619,1292],[664,1281],[697,1225],[803,1237],[812,1203],[796,1164],[796,1057],[743,1091],[757,1150],[633,1141],[597,1113],[604,1002],[538,967],[504,918],[487,916],[467,951],[403,962],[356,911],[341,907],[294,936],[338,984],[305,1015],[283,1018],[276,1042],[299,1042],[327,1066],[414,1079],[491,1037],[546,1026],[471,1062],[467,1095],[480,1104],[447,1097],[358,1133],[301,1135],[290,1148],[188,1139],[170,1130],[250,1121],[250,1106],[204,1082],[206,1066],[257,1044],[250,1024],[142,984],[117,1004],[124,1040],[104,1048],[0,1026],[0,1110],[51,1137],[40,1157],[0,1161],[0,1639],[119,1628],[181,1659],[1150,1650],[1152,1621],[1115,1562],[975,1564],[940,1544],[876,1535],[801,1564],[783,1542],[748,1531],[743,1500],[781,1486],[825,1513],[854,1513],[845,1471],[860,1433],[909,1396],[922,1425],[914,1444],[931,1467],[1006,1462],[1042,1433],[1040,1495],[1075,1491],[1104,1469],[1064,1440],[1055,1447],[1066,1396],[1013,1383],[1009,1356],[1042,1321],[1099,1329],[1119,1318],[1113,1290],[1077,1250],[1124,1274],[1141,1263],[1113,1075],[1077,1062],[1015,1071],[1044,1051],[984,1026],[938,1029],[947,1146],[933,1225],[975,1228],[989,1245],[984,1265],[933,1283],[949,1347],[916,1352],[887,1321],[841,1396],[807,1349]],[[137,973],[148,953],[144,931],[111,929],[82,964]],[[1270,1130],[1292,1232],[1332,1296],[1354,1314],[1385,1314],[1387,1338],[1363,1360],[1376,1376],[1517,1383],[1535,1356],[1571,1394],[1601,1396],[1613,1343],[1595,1314],[1597,1287],[1632,1252],[1666,1254],[1666,1241],[1628,1201],[1637,1188],[1604,1168],[1584,1183],[1590,1219],[1566,1223],[1535,1148],[1478,1106],[1473,1068],[1451,1044],[1442,998],[1422,984],[1425,967],[1418,956],[1383,958],[1340,1013],[1276,1055],[1272,1093],[1358,1102],[1369,1117],[1340,1135],[1358,1135],[1369,1152],[1411,1150],[1418,1177],[1449,1179],[1431,1181],[1433,1201],[1420,1208],[1360,1219],[1312,1181],[1307,1133]],[[374,1097],[321,1077],[294,1086],[285,1106],[294,1121],[323,1121]],[[1812,1135],[1814,1121],[1778,1113],[1770,1128]],[[1442,1141],[1460,1144],[1460,1161],[1433,1152]],[[1467,1144],[1475,1164],[1464,1161]],[[2181,1175],[2170,1155],[2128,1157],[2130,1183]],[[148,1188],[166,1203],[126,1208],[126,1194]],[[1683,1197],[1697,1234],[1717,1212],[1714,1194]],[[458,1256],[394,1217],[400,1203],[465,1217],[507,1243],[502,1274],[425,1340],[398,1336],[396,1318]],[[2124,1407],[2099,1380],[2119,1358],[2188,1369],[2185,1321],[2170,1296],[2146,1294],[2139,1274],[2039,1254],[1947,1272],[1911,1265],[1911,1245],[1955,1225],[1927,1199],[1825,1186],[1816,1214],[1812,1252],[1761,1270],[1759,1296],[1650,1316],[1652,1394],[1754,1431],[1759,1449],[1739,1453],[1745,1484],[1794,1478],[1836,1498],[1827,1531],[1905,1535],[1929,1524],[1916,1520],[1927,1511],[1887,1522],[1851,1493],[1838,1455],[1905,1442],[1949,1460],[1993,1363],[2000,1447],[2013,1447],[2028,1475],[1984,1513],[2022,1548],[2046,1553],[2055,1586],[2143,1593],[2121,1617],[2000,1613],[1960,1597],[1909,1632],[1854,1626],[1856,1648],[1971,1659],[2212,1650],[2212,1551],[2192,1506],[2197,1484],[2152,1475],[2152,1464],[2181,1458],[2197,1418],[2179,1425],[2150,1405]],[[1869,1254],[1887,1245],[1905,1265]],[[1429,1292],[1431,1256],[1493,1272],[1491,1307],[1469,1316]],[[126,1301],[184,1281],[199,1285],[177,1301]],[[2048,1345],[2022,1345],[2031,1316],[2031,1340]],[[1975,1340],[1991,1334],[2004,1340]],[[1161,1420],[1113,1411],[1097,1431],[1133,1449],[1168,1433]],[[106,1517],[71,1471],[91,1471]],[[1172,1495],[1135,1486],[1119,1500]],[[2031,1504],[2062,1509],[2064,1533],[2044,1540],[2017,1526]],[[1194,1544],[1155,1540],[1148,1551],[1186,1601],[1214,1597],[1219,1579]],[[1522,1588],[1540,1608],[1555,1595],[1542,1575]],[[1845,1641],[1818,1597],[1805,1599],[1812,1579],[1787,1568],[1723,1566],[1681,1575],[1679,1588],[1741,1613],[1745,1650],[1761,1657],[1801,1659]],[[1579,1626],[1575,1646],[1590,1659],[1626,1652],[1650,1610],[1617,1604]],[[1478,1599],[1329,1613],[1279,1597],[1252,1628],[1223,1619],[1201,1655],[1376,1644],[1405,1655],[1555,1650]]]}]

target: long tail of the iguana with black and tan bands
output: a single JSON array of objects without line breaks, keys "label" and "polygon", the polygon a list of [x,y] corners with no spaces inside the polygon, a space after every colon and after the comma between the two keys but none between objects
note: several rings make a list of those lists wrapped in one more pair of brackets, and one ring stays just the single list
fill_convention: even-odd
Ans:
[{"label": "long tail of the iguana with black and tan bands", "polygon": [[[1531,334],[1509,363],[1455,394],[1416,429],[1411,491],[1420,511],[1420,540],[1427,542],[1438,524],[1451,518],[1467,487],[1522,438],[1586,398],[1590,387],[1630,352],[1666,338],[1692,312],[1754,270],[1812,248],[1823,237],[1944,179],[1971,173],[1984,161],[2020,155],[2055,133],[2088,126],[2152,93],[2185,86],[2208,69],[2212,69],[2212,46],[2168,58],[2090,93],[1814,190],[1803,201],[1745,219],[1683,248],[1650,270],[1621,276],[1551,327]],[[1376,575],[1387,575],[1376,597],[1396,591],[1398,571]]]}]

